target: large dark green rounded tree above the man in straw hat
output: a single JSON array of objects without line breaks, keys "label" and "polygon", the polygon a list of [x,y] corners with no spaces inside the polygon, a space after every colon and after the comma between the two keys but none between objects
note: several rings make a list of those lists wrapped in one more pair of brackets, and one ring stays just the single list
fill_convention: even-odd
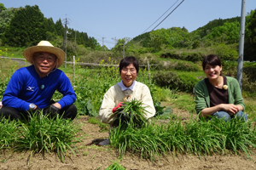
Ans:
[{"label": "large dark green rounded tree above the man in straw hat", "polygon": [[27,47],[45,39],[44,14],[37,5],[20,8],[15,11],[3,34],[3,43],[13,47]]}]

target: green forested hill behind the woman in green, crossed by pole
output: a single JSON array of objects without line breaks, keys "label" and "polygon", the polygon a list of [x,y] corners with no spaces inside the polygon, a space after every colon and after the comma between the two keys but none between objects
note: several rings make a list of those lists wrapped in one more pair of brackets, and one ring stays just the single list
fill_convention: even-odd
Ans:
[{"label": "green forested hill behind the woman in green, crossed by pole", "polygon": [[[252,10],[246,16],[245,59],[247,60],[256,60],[255,48],[253,48],[256,45],[255,11]],[[162,28],[134,37],[127,45],[133,48],[139,46],[141,52],[161,52],[162,55],[165,55],[166,52],[167,55],[172,55],[175,53],[174,48],[190,51],[196,51],[197,48],[222,48],[219,55],[222,55],[224,59],[236,59],[240,37],[240,20],[240,17],[212,20],[206,26],[192,32],[189,32],[185,27]],[[196,53],[198,54],[198,51]],[[173,56],[177,56],[177,54]]]}]

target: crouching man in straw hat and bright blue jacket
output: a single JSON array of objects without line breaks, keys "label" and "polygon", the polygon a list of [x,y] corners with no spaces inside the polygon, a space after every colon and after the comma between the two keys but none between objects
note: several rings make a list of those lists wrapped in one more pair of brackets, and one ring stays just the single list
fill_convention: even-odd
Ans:
[{"label": "crouching man in straw hat and bright blue jacket", "polygon": [[[64,62],[64,51],[41,41],[37,46],[26,48],[23,55],[32,65],[20,68],[11,77],[3,94],[0,116],[22,120],[43,109],[49,117],[59,114],[62,118],[74,119],[76,94],[68,77],[57,69]],[[55,90],[63,94],[57,102],[51,100]]]}]

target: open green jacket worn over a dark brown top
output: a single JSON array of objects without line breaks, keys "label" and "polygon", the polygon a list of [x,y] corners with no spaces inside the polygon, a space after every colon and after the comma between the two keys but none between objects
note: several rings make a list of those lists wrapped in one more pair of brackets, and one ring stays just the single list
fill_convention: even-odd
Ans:
[{"label": "open green jacket worn over a dark brown top", "polygon": [[[236,78],[226,78],[228,85],[229,103],[234,105],[241,105],[244,111],[245,105],[241,97],[239,83],[237,82]],[[210,97],[205,79],[201,80],[200,82],[197,82],[197,84],[195,85],[195,103],[196,113],[201,113],[201,110],[210,107]]]}]

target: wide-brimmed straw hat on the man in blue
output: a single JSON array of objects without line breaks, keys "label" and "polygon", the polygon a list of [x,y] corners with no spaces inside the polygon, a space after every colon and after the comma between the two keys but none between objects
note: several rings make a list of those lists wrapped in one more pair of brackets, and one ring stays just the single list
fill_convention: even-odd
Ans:
[{"label": "wide-brimmed straw hat on the man in blue", "polygon": [[32,46],[30,48],[26,48],[23,52],[23,56],[26,60],[33,65],[32,56],[36,52],[48,52],[51,54],[55,54],[58,58],[58,63],[56,68],[60,67],[65,59],[65,52],[61,48],[55,48],[50,42],[48,41],[41,41],[38,43],[37,46]]}]

